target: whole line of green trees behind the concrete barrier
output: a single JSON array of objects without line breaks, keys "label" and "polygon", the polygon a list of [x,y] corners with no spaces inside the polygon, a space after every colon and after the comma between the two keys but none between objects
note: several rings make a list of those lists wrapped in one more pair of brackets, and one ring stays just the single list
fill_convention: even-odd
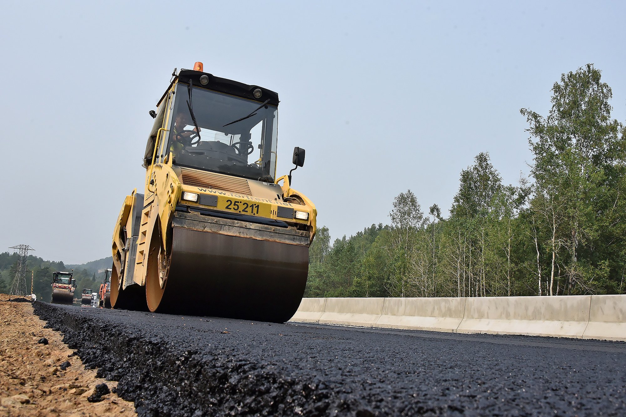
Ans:
[{"label": "whole line of green trees behind the concrete barrier", "polygon": [[624,294],[626,131],[611,97],[592,64],[563,74],[548,115],[520,110],[530,176],[505,185],[489,154],[476,155],[448,218],[407,190],[390,225],[332,244],[321,227],[305,297]]}]

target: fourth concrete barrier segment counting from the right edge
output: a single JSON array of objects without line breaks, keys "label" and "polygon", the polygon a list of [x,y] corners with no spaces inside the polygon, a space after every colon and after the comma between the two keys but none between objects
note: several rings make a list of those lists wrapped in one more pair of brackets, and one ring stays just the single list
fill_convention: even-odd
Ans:
[{"label": "fourth concrete barrier segment counting from the right edge", "polygon": [[381,317],[384,298],[328,298],[320,324],[372,327]]}]

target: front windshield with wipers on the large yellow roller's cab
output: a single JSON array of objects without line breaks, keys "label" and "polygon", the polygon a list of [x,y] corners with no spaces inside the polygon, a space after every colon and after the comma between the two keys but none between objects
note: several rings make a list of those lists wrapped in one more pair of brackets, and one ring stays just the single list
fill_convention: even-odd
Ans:
[{"label": "front windshield with wipers on the large yellow roller's cab", "polygon": [[274,182],[276,106],[193,87],[198,132],[188,100],[188,86],[178,84],[162,153],[174,154],[173,165]]}]

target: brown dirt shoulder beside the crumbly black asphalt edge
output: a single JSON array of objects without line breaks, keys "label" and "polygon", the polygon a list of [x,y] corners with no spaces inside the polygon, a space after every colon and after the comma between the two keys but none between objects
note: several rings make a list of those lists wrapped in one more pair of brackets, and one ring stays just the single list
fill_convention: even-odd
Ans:
[{"label": "brown dirt shoulder beside the crumbly black asphalt edge", "polygon": [[107,389],[96,390],[98,384],[117,383],[85,369],[63,336],[44,329],[31,303],[18,299],[0,294],[0,416],[136,416],[133,403],[114,393],[99,396]]}]

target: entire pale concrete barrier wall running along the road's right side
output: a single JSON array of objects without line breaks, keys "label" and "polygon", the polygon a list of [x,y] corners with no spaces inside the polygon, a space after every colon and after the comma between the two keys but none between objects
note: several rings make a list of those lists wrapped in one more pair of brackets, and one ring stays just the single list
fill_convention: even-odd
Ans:
[{"label": "entire pale concrete barrier wall running along the road's right side", "polygon": [[626,296],[305,298],[291,321],[626,341]]}]

